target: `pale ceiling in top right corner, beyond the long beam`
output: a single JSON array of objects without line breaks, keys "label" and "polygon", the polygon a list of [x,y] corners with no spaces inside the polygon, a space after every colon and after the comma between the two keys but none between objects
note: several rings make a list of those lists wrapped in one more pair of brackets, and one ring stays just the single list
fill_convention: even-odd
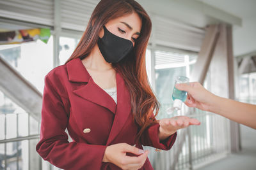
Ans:
[{"label": "pale ceiling in top right corner, beyond the long beam", "polygon": [[242,19],[241,27],[233,29],[234,55],[256,51],[255,0],[198,0]]}]

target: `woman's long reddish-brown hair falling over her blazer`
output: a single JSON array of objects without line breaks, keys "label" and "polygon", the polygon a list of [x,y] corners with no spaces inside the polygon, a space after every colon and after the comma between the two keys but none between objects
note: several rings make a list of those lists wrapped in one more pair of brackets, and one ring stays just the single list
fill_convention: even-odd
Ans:
[{"label": "woman's long reddish-brown hair falling over her blazer", "polygon": [[[96,45],[102,26],[118,17],[138,13],[141,18],[141,34],[136,40],[129,56],[126,56],[113,68],[122,74],[125,85],[130,92],[132,115],[135,122],[140,125],[136,139],[152,124],[157,122],[156,115],[159,103],[150,88],[145,66],[145,54],[150,37],[152,23],[147,12],[134,0],[101,0],[93,10],[86,31],[71,57],[67,60],[84,59]],[[67,64],[67,62],[65,64]],[[155,114],[154,114],[155,112]]]}]

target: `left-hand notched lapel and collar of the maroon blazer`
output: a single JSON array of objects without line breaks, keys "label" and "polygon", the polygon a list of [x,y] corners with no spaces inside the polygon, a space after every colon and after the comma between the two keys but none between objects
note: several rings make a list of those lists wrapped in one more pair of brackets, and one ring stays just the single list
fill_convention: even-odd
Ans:
[{"label": "left-hand notched lapel and collar of the maroon blazer", "polygon": [[92,76],[90,76],[84,67],[81,59],[76,58],[70,60],[70,62],[67,63],[67,71],[69,81],[74,83],[86,83],[79,88],[74,89],[74,94],[88,101],[92,101],[95,104],[99,104],[110,110],[112,113],[116,113],[115,101],[93,81]]}]

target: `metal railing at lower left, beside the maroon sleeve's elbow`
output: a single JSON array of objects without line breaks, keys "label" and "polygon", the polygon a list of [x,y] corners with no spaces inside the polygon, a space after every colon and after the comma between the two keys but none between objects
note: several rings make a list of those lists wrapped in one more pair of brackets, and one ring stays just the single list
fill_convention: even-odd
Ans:
[{"label": "metal railing at lower left, beside the maroon sleeve's elbow", "polygon": [[31,169],[29,162],[36,156],[40,138],[38,122],[28,113],[0,113],[0,122],[1,169]]}]

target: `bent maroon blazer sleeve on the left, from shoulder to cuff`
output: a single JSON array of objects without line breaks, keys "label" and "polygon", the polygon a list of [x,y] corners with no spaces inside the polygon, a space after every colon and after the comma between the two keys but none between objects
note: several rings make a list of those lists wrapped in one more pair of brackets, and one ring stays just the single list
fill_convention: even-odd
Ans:
[{"label": "bent maroon blazer sleeve on the left, from shoulder to cuff", "polygon": [[68,113],[61,99],[63,97],[48,76],[44,81],[40,141],[36,145],[36,152],[61,169],[100,169],[106,146],[68,142],[65,132]]}]

